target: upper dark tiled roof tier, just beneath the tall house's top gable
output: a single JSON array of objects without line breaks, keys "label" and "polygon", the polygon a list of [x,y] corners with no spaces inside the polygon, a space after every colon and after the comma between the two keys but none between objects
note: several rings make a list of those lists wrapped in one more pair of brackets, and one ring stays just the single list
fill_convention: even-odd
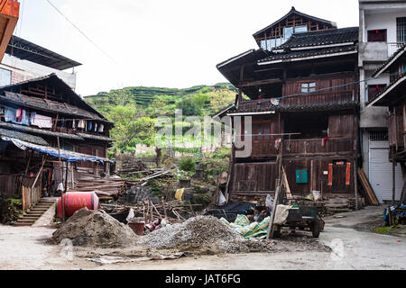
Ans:
[{"label": "upper dark tiled roof tier, just beneath the tall house's top gable", "polygon": [[298,33],[293,34],[290,40],[275,49],[314,47],[347,42],[356,43],[358,42],[358,33],[358,27]]}]

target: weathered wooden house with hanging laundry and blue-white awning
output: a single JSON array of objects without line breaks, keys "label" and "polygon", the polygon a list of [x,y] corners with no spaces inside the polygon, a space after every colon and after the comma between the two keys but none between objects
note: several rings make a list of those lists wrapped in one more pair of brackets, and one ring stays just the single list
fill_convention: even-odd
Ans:
[{"label": "weathered wooden house with hanging laundry and blue-white awning", "polygon": [[24,208],[61,182],[109,174],[113,123],[55,74],[0,87],[0,112],[0,194]]}]

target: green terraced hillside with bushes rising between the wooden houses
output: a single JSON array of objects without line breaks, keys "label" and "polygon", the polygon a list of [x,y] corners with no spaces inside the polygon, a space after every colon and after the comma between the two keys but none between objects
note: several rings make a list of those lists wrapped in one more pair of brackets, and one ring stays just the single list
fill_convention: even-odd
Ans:
[{"label": "green terraced hillside with bushes rising between the wooden houses", "polygon": [[114,149],[123,152],[134,150],[138,143],[153,144],[157,117],[169,116],[174,121],[178,108],[185,117],[203,118],[234,103],[235,94],[233,85],[219,83],[185,89],[126,87],[88,96],[85,100],[115,123],[115,129],[111,131],[115,139]]}]

